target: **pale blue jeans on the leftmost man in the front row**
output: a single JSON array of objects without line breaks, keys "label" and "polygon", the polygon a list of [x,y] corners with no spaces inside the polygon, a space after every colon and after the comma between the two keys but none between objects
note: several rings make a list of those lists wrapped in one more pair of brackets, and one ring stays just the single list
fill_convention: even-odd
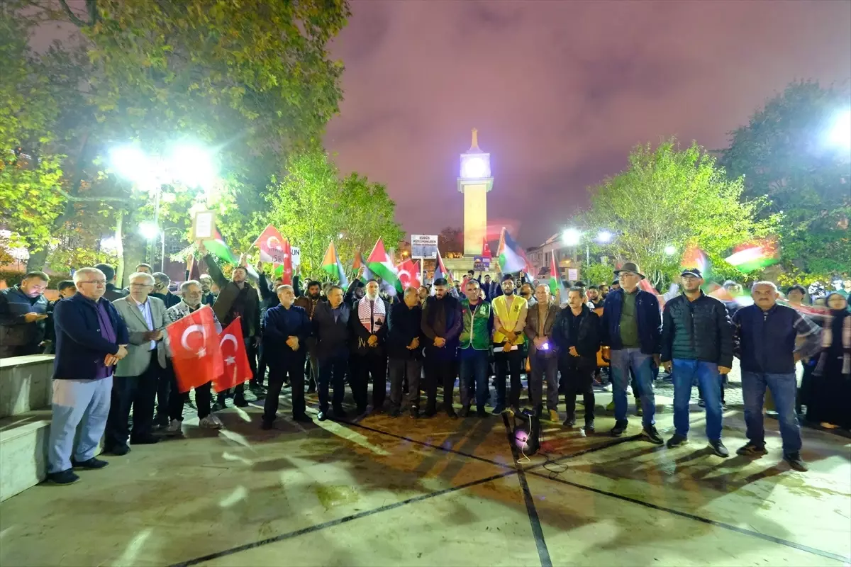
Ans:
[{"label": "pale blue jeans on the leftmost man in the front row", "polygon": [[[48,444],[48,472],[71,468],[71,454],[77,462],[94,456],[106,429],[112,395],[112,377],[100,380],[54,380],[53,417]],[[77,425],[80,439],[74,451]]]}]

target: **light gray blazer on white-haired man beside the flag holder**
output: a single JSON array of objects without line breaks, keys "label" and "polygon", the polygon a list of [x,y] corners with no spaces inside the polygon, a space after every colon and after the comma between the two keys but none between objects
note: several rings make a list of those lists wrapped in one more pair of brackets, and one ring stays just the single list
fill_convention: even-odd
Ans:
[{"label": "light gray blazer on white-haired man beside the flag holder", "polygon": [[[163,331],[165,333],[165,303],[162,299],[148,297],[151,303],[151,320],[154,324],[154,330]],[[148,332],[148,325],[145,321],[145,316],[139,310],[134,298],[127,296],[126,298],[116,299],[112,302],[118,315],[121,315],[124,322],[127,323],[127,331],[130,337],[130,343],[127,346],[127,356],[122,360],[118,360],[118,365],[115,369],[116,376],[139,376],[146,371],[151,364],[151,342],[142,338],[142,335]],[[157,341],[157,360],[161,368],[165,368],[165,345],[163,341]]]}]

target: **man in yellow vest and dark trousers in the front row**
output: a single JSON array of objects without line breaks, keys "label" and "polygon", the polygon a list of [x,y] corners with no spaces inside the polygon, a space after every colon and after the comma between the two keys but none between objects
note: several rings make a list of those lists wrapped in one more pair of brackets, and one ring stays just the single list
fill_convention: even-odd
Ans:
[{"label": "man in yellow vest and dark trousers in the front row", "polygon": [[526,336],[525,298],[514,294],[514,278],[502,278],[502,295],[491,302],[494,308],[494,362],[496,363],[496,407],[494,414],[505,411],[505,375],[511,375],[511,410],[520,409],[520,367],[523,364],[523,346]]}]

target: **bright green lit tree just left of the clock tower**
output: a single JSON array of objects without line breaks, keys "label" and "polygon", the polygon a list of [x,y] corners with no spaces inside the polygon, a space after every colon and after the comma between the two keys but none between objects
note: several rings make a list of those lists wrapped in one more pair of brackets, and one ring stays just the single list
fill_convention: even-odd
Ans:
[{"label": "bright green lit tree just left of the clock tower", "polygon": [[396,203],[384,185],[357,173],[340,179],[323,151],[291,156],[286,169],[266,195],[268,212],[255,213],[251,239],[266,224],[274,224],[300,247],[305,274],[317,274],[332,240],[343,264],[351,264],[357,250],[365,258],[379,238],[388,247],[403,240],[394,220]]}]

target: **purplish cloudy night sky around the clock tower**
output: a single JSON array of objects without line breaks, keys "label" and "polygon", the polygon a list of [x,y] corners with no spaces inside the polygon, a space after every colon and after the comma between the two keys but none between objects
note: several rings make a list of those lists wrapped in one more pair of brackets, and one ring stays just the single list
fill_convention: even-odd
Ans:
[{"label": "purplish cloudy night sky around the clock tower", "polygon": [[709,148],[788,82],[851,76],[851,2],[355,0],[326,144],[408,232],[462,224],[458,155],[491,153],[488,217],[554,233],[632,145]]}]

